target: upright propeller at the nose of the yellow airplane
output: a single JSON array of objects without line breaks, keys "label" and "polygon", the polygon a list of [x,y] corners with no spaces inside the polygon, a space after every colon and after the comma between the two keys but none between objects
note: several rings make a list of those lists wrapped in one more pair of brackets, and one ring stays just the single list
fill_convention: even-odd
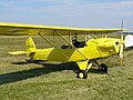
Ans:
[{"label": "upright propeller at the nose of the yellow airplane", "polygon": [[122,26],[121,26],[121,29],[122,29],[122,34],[121,34],[121,43],[120,43],[120,62],[121,62],[121,66],[123,66],[123,49],[124,49],[124,38],[123,38],[123,21],[122,21]]}]

